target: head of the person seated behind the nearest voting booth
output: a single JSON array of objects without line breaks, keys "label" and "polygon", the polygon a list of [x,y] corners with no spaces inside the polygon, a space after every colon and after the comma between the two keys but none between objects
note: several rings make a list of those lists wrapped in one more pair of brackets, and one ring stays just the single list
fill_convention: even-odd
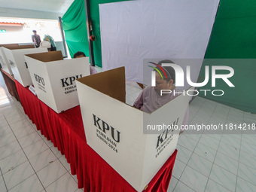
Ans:
[{"label": "head of the person seated behind the nearest voting booth", "polygon": [[[158,62],[159,66],[162,66],[163,63],[174,63],[171,60],[162,60]],[[162,66],[164,72],[166,75],[163,73],[162,69],[157,66],[158,71],[156,70],[156,86],[154,87],[154,90],[160,94],[160,90],[172,90],[173,84],[175,84],[175,70],[172,67],[169,66]],[[167,77],[167,78],[166,78]]]}]

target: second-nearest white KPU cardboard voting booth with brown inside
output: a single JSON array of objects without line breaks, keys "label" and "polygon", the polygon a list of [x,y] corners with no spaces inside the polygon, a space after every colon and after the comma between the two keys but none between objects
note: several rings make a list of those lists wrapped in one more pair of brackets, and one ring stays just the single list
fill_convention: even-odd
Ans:
[{"label": "second-nearest white KPU cardboard voting booth with brown inside", "polygon": [[61,51],[25,56],[38,99],[57,113],[79,105],[75,79],[90,75],[89,58],[62,59]]}]

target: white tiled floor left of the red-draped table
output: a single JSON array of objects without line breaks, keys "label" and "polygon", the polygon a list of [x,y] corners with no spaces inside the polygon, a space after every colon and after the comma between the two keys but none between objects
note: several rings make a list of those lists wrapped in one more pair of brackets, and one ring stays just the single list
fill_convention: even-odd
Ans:
[{"label": "white tiled floor left of the red-draped table", "polygon": [[0,191],[78,192],[76,175],[53,144],[35,129],[0,75]]}]

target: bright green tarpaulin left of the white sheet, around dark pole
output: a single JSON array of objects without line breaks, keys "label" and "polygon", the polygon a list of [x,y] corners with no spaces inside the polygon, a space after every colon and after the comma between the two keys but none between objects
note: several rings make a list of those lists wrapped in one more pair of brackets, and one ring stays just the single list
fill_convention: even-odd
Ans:
[{"label": "bright green tarpaulin left of the white sheet, around dark pole", "polygon": [[[90,17],[93,23],[93,51],[95,65],[102,67],[102,47],[100,41],[99,4],[109,2],[124,2],[127,0],[93,0],[90,1]],[[83,51],[90,56],[87,38],[87,25],[84,9],[84,0],[75,0],[69,10],[62,17],[62,26],[65,32],[66,43],[69,47],[70,56],[77,51]]]}]

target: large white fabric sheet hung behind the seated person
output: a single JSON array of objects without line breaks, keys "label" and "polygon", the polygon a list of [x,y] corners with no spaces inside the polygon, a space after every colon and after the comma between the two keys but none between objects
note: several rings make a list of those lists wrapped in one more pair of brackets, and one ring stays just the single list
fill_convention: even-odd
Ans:
[{"label": "large white fabric sheet hung behind the seated person", "polygon": [[[143,83],[143,59],[197,59],[190,67],[197,82],[218,4],[137,0],[99,5],[103,71],[125,66],[127,79]],[[177,64],[185,69],[187,62]]]}]

